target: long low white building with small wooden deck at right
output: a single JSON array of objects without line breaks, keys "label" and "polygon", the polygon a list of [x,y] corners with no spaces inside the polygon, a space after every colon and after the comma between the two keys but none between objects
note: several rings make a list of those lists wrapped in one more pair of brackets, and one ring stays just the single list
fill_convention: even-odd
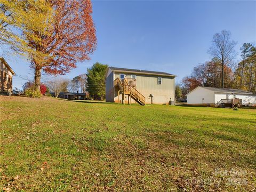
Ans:
[{"label": "long low white building with small wooden deck at right", "polygon": [[216,106],[240,99],[242,105],[256,105],[256,95],[244,90],[198,86],[187,95],[188,105]]}]

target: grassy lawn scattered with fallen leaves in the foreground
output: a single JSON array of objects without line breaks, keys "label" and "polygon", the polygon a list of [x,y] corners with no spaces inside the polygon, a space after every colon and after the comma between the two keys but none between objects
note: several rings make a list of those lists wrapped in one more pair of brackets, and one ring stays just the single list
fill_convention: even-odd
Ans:
[{"label": "grassy lawn scattered with fallen leaves in the foreground", "polygon": [[255,109],[21,97],[0,107],[0,190],[256,190]]}]

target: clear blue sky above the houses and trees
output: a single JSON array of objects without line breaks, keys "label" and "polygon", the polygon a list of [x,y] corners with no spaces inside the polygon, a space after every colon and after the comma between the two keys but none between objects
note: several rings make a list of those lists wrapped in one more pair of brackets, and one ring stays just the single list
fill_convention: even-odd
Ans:
[{"label": "clear blue sky above the houses and trees", "polygon": [[[97,50],[66,78],[86,73],[98,61],[165,71],[177,75],[179,82],[198,63],[211,59],[207,50],[222,29],[231,31],[237,52],[243,43],[256,41],[256,1],[92,1],[92,5]],[[2,55],[19,76],[33,79],[25,58]],[[19,76],[13,87],[26,82]]]}]

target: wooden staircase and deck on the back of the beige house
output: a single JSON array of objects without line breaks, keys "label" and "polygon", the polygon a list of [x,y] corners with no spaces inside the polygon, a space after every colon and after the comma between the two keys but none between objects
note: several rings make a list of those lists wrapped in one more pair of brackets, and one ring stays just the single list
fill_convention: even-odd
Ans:
[{"label": "wooden staircase and deck on the back of the beige house", "polygon": [[[118,97],[121,92],[122,103],[124,103],[124,95],[128,95],[128,100],[131,104],[131,98],[139,103],[139,105],[145,105],[145,97],[135,88],[134,84],[129,84],[126,79],[119,79],[117,77],[114,81],[114,86],[118,87]],[[130,99],[129,99],[130,97]]]}]

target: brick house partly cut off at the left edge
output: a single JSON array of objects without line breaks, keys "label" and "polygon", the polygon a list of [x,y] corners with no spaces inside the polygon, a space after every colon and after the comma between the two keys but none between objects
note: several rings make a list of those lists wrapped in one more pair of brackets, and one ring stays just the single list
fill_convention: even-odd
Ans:
[{"label": "brick house partly cut off at the left edge", "polygon": [[0,57],[0,79],[1,90],[0,94],[12,93],[12,76],[16,75],[12,68],[8,65],[3,57]]}]

